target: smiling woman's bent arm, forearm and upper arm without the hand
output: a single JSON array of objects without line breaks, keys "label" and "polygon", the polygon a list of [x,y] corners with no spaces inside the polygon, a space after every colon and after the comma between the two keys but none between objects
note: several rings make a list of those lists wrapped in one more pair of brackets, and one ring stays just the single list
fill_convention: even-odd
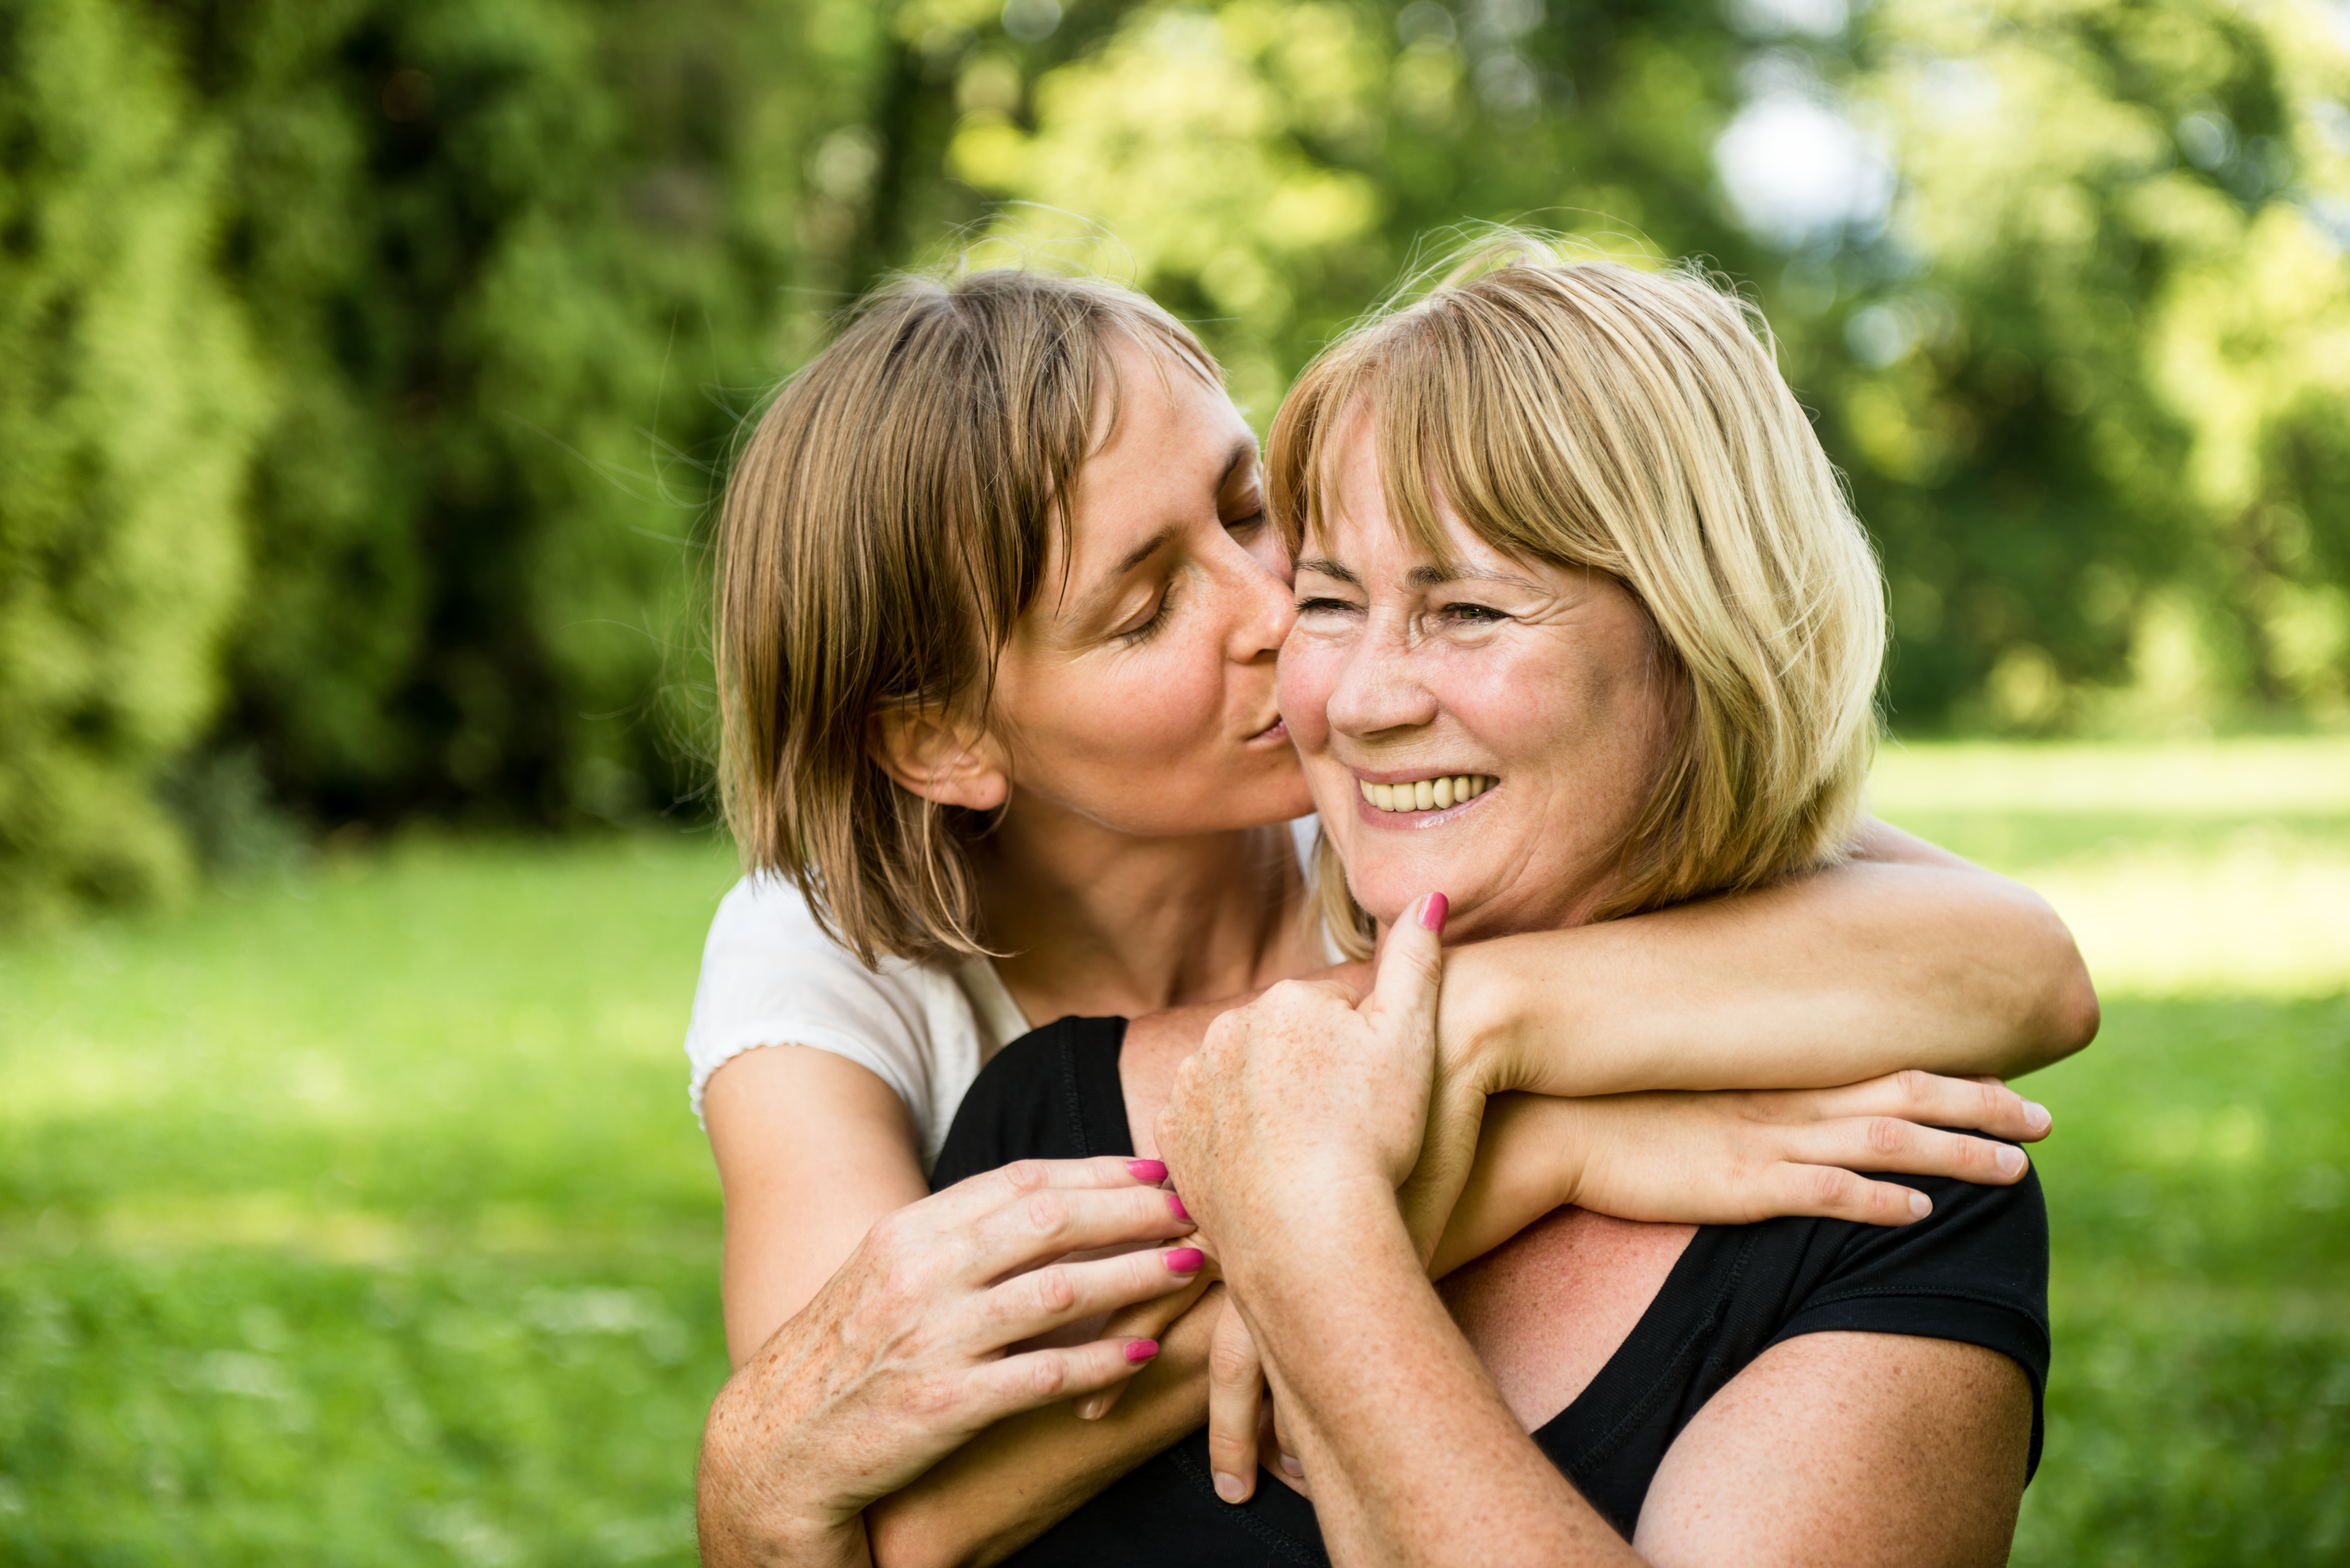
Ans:
[{"label": "smiling woman's bent arm, forearm and upper arm without the hand", "polygon": [[2007,1356],[1878,1333],[1779,1345],[1680,1434],[1626,1544],[1502,1403],[1391,1194],[1330,1190],[1316,1213],[1234,1265],[1332,1559],[2007,1561],[2030,1439],[2030,1387]]}]

